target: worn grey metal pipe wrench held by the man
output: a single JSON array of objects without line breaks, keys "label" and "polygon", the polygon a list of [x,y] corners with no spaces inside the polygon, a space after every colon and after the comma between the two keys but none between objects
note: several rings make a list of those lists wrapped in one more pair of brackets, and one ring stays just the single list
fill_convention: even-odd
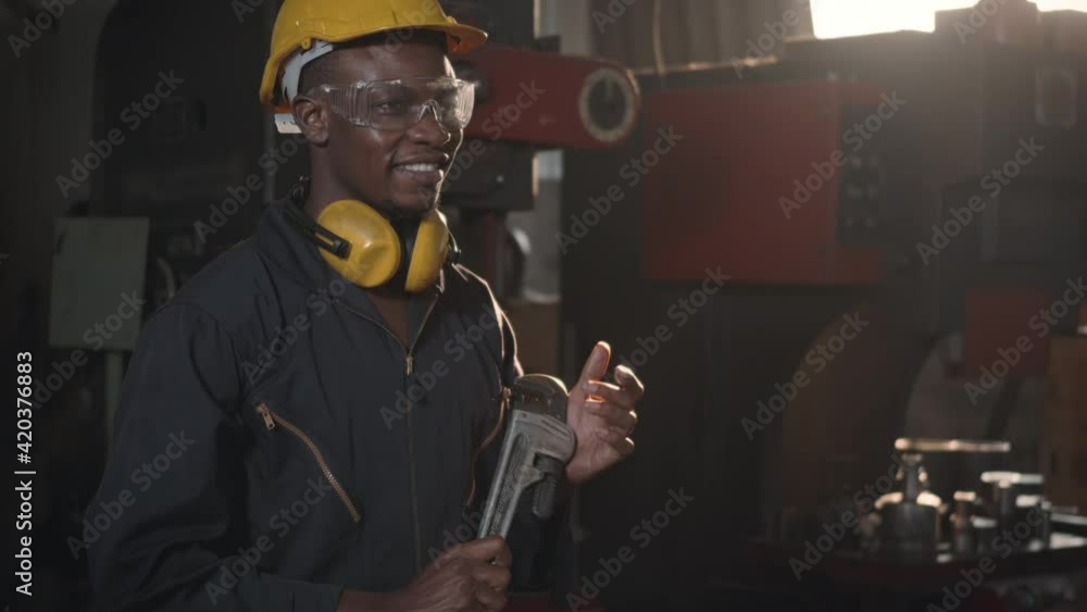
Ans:
[{"label": "worn grey metal pipe wrench held by the man", "polygon": [[535,487],[533,513],[547,519],[566,462],[574,454],[574,433],[566,425],[566,386],[542,374],[517,378],[510,389],[502,454],[490,484],[479,537],[505,537],[522,494]]}]

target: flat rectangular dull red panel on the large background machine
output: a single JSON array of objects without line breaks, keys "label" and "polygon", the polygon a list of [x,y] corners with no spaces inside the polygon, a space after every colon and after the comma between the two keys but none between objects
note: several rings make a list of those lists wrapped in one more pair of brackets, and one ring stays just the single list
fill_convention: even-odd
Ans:
[{"label": "flat rectangular dull red panel on the large background machine", "polygon": [[698,280],[720,265],[740,283],[879,280],[886,168],[864,121],[882,124],[880,104],[894,116],[885,96],[857,83],[653,96],[646,142],[662,126],[686,141],[659,163],[646,153],[646,276]]}]

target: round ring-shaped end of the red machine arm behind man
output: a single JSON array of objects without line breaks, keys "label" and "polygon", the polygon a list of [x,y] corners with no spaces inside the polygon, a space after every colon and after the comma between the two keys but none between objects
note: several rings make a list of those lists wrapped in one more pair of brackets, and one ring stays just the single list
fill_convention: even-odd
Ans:
[{"label": "round ring-shaped end of the red machine arm behind man", "polygon": [[586,77],[580,96],[582,125],[601,142],[617,142],[630,133],[637,115],[637,85],[625,72],[599,68]]}]

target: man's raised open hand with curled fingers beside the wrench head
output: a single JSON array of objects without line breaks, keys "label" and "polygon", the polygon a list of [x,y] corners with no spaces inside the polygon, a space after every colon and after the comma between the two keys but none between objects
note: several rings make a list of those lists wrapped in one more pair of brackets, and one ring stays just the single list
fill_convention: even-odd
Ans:
[{"label": "man's raised open hand with curled fingers beside the wrench head", "polygon": [[597,342],[570,391],[566,424],[577,437],[577,449],[566,465],[566,478],[579,485],[634,452],[630,434],[638,424],[634,404],[645,387],[625,365],[615,367],[619,386],[601,380],[608,373],[611,347]]}]

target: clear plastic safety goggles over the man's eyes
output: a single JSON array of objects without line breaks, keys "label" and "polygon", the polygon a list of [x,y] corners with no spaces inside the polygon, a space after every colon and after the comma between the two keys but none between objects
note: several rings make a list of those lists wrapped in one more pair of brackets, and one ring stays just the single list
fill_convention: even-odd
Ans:
[{"label": "clear plastic safety goggles over the man's eyes", "polygon": [[429,110],[442,127],[455,132],[468,124],[475,107],[475,85],[445,76],[320,85],[309,95],[325,97],[334,112],[354,125],[388,130],[408,129]]}]

